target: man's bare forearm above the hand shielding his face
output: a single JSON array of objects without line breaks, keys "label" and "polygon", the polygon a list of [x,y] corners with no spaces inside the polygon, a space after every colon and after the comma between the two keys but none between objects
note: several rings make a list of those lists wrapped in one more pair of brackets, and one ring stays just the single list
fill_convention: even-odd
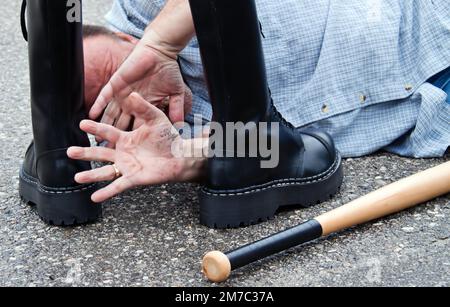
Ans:
[{"label": "man's bare forearm above the hand shielding his face", "polygon": [[160,14],[147,27],[141,43],[176,59],[194,33],[189,1],[168,0]]}]

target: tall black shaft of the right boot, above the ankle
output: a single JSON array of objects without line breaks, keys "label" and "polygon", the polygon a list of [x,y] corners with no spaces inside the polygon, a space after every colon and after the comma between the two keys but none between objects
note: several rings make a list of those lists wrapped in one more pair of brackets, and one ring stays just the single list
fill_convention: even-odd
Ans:
[{"label": "tall black shaft of the right boot, above the ankle", "polygon": [[190,0],[214,121],[267,121],[270,105],[254,0]]}]

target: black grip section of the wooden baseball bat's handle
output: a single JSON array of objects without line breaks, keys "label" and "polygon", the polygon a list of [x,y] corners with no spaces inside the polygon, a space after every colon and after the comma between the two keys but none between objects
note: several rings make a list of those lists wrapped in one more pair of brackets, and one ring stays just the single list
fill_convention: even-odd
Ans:
[{"label": "black grip section of the wooden baseball bat's handle", "polygon": [[231,269],[235,270],[289,248],[318,239],[322,236],[322,233],[322,225],[316,220],[310,220],[299,226],[236,249],[227,253],[226,256],[230,260]]}]

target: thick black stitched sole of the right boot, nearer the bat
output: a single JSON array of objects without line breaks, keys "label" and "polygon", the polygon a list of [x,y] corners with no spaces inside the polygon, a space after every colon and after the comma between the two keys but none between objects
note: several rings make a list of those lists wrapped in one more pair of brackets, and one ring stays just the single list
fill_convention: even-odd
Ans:
[{"label": "thick black stitched sole of the right boot, nearer the bat", "polygon": [[200,192],[200,223],[217,229],[246,227],[273,219],[279,209],[308,208],[332,198],[344,178],[342,159],[312,178],[287,179],[233,191]]}]

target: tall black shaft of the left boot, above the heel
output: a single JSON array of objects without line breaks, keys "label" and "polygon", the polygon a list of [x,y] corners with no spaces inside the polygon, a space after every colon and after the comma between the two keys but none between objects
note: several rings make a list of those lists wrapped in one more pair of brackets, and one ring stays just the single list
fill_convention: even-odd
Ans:
[{"label": "tall black shaft of the left boot, above the heel", "polygon": [[28,0],[31,109],[36,154],[88,145],[81,0]]}]

